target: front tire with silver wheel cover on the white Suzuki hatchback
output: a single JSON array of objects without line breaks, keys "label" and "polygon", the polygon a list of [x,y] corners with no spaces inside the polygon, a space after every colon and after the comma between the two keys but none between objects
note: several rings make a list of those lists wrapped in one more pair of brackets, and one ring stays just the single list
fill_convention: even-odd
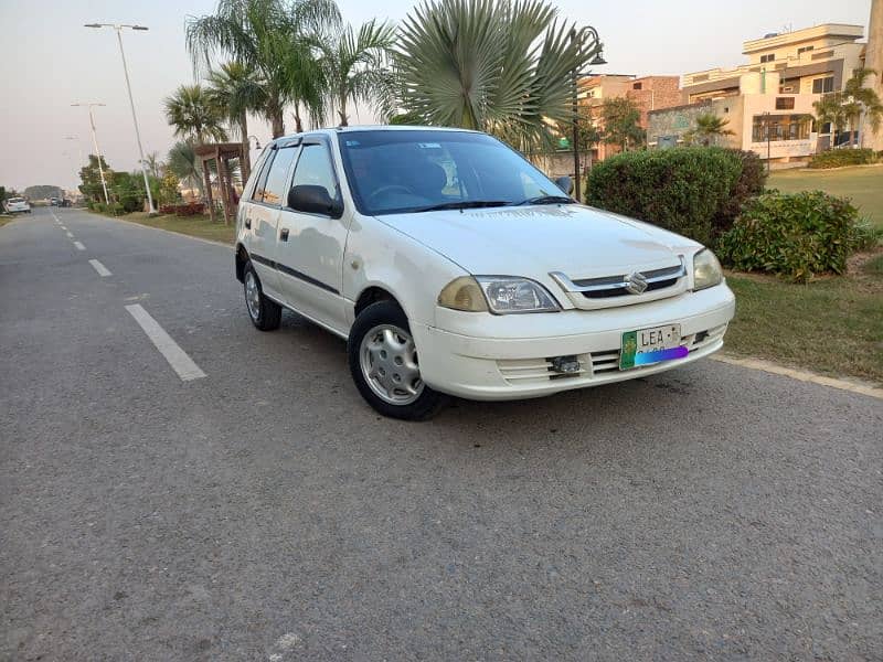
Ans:
[{"label": "front tire with silver wheel cover on the white Suzuki hatchback", "polygon": [[411,325],[395,301],[377,301],[359,313],[347,353],[359,393],[383,416],[425,420],[448,401],[419,378]]}]

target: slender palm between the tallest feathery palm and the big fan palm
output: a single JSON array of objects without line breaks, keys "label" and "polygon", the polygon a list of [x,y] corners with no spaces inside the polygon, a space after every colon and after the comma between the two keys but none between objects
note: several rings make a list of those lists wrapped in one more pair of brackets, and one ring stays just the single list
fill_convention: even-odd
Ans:
[{"label": "slender palm between the tallest feathery palm and the big fan palm", "polygon": [[347,25],[337,34],[318,42],[320,65],[328,86],[328,104],[349,124],[347,103],[364,102],[389,116],[392,110],[392,73],[387,54],[395,41],[395,28],[374,20],[363,23],[359,33]]}]

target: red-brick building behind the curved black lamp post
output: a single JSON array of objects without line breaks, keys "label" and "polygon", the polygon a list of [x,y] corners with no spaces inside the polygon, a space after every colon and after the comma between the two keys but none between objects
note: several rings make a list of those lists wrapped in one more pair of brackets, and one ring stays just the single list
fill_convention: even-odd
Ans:
[{"label": "red-brick building behind the curved black lamp post", "polygon": [[[681,104],[679,76],[631,76],[603,74],[582,78],[578,84],[581,115],[603,129],[602,108],[605,99],[626,97],[640,110],[640,126],[648,127],[648,114],[659,108]],[[615,145],[598,145],[592,150],[592,161],[603,161],[619,151]]]}]

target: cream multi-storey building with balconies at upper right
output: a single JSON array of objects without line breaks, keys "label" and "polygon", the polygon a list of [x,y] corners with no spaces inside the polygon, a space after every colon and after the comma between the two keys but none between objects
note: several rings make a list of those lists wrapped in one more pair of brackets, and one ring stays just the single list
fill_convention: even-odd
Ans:
[{"label": "cream multi-storey building with balconies at upper right", "polygon": [[773,163],[806,161],[836,139],[829,125],[816,126],[812,104],[842,90],[862,66],[862,35],[861,25],[826,23],[746,41],[746,64],[683,76],[683,104],[650,111],[648,143],[680,142],[698,115],[713,113],[734,132],[720,145],[755,151]]}]

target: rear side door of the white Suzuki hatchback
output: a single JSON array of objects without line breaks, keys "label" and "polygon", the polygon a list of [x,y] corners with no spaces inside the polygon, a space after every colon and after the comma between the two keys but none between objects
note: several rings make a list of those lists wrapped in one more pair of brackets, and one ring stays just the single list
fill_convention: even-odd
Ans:
[{"label": "rear side door of the white Suzuki hatchback", "polygon": [[270,298],[284,300],[279,287],[279,273],[276,268],[276,242],[279,224],[279,209],[286,193],[291,163],[297,154],[297,146],[276,147],[267,157],[257,184],[255,185],[245,226],[251,225],[248,255],[255,265],[260,284]]}]

